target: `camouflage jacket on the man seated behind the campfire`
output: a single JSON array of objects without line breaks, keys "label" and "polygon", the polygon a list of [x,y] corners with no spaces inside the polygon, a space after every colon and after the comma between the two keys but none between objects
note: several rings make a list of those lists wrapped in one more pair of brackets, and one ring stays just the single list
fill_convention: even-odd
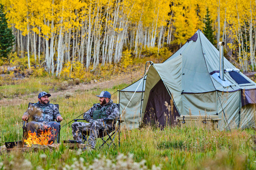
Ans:
[{"label": "camouflage jacket on the man seated behind the campfire", "polygon": [[50,101],[46,105],[42,105],[39,101],[32,104],[24,115],[27,115],[28,118],[31,117],[32,121],[35,122],[52,122],[54,119],[57,120],[58,116],[61,116],[59,109],[54,104],[51,104]]}]

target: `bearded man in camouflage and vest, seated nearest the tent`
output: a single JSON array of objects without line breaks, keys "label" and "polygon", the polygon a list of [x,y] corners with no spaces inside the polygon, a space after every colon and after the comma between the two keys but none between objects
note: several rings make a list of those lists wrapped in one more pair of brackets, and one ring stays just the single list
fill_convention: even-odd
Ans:
[{"label": "bearded man in camouflage and vest, seated nearest the tent", "polygon": [[[119,117],[118,106],[113,103],[112,99],[110,99],[111,94],[109,92],[102,91],[100,95],[96,96],[100,98],[100,103],[94,104],[83,116],[89,123],[74,122],[72,124],[72,134],[74,140],[77,140],[78,142],[83,141],[83,132],[90,132],[88,144],[92,149],[95,148],[99,129],[104,128],[104,119],[118,119]],[[115,124],[116,120],[106,121],[105,128],[113,128]]]}]

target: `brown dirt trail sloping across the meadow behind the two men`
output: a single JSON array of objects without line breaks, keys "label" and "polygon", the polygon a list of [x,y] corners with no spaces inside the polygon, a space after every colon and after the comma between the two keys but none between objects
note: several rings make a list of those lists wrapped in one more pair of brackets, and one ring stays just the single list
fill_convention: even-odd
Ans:
[{"label": "brown dirt trail sloping across the meadow behind the two men", "polygon": [[[74,85],[74,86],[69,86],[67,90],[63,91],[58,91],[58,92],[49,92],[51,93],[52,96],[57,97],[57,96],[62,96],[66,92],[75,92],[76,90],[90,90],[94,88],[100,88],[100,89],[106,89],[106,88],[111,88],[114,85],[119,85],[122,83],[126,84],[131,84],[133,81],[138,80],[139,78],[143,77],[142,71],[130,71],[129,73],[122,73],[118,76],[115,76],[115,78],[107,81],[98,81],[96,83],[89,83],[89,84],[82,84],[80,83],[79,85]],[[29,97],[29,96],[35,96],[35,97]],[[21,103],[28,103],[31,101],[37,101],[37,93],[33,94],[27,94],[27,95],[22,95],[19,97],[14,97],[12,99],[2,99],[0,100],[0,106],[5,106],[5,105],[19,105]]]}]

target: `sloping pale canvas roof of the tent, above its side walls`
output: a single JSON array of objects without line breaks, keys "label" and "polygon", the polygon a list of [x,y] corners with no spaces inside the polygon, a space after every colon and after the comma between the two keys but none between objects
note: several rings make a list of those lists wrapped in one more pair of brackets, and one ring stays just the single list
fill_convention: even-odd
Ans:
[{"label": "sloping pale canvas roof of the tent, above its side walls", "polygon": [[[178,56],[181,56],[178,57]],[[212,43],[205,37],[201,30],[197,30],[191,37],[190,41],[187,41],[178,51],[176,51],[171,57],[165,60],[163,63],[154,64],[164,82],[172,82],[170,74],[173,74],[172,63],[175,63],[176,59],[182,60],[182,69],[180,72],[175,72],[174,76],[181,76],[182,83],[180,92],[183,93],[202,93],[212,92],[215,90],[231,92],[239,89],[254,89],[256,83],[250,78],[246,77],[243,73],[239,72],[249,83],[237,84],[236,81],[230,76],[229,73],[225,73],[225,79],[227,79],[228,85],[223,85],[219,82],[218,76],[210,75],[209,73],[219,70],[219,51],[212,45]],[[172,68],[170,67],[172,65]],[[236,68],[224,57],[224,69]],[[214,77],[215,76],[215,77]],[[142,79],[142,78],[141,78]],[[122,89],[121,91],[134,92],[138,87],[140,80],[132,85]],[[227,83],[226,82],[226,83]],[[138,88],[138,92],[141,92],[143,82]],[[145,85],[143,91],[145,90]]]}]

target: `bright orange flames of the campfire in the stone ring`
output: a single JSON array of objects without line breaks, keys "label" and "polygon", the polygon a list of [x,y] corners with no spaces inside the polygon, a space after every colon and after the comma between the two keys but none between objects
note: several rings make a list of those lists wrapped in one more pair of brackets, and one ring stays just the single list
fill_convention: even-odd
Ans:
[{"label": "bright orange flames of the campfire in the stone ring", "polygon": [[[55,130],[56,134],[57,131]],[[51,137],[54,135],[52,134],[52,129],[45,127],[44,131],[38,130],[38,136],[36,135],[36,132],[31,133],[31,131],[28,131],[28,137],[27,139],[24,140],[26,144],[31,147],[32,144],[40,144],[40,145],[47,145],[47,144],[52,144],[53,141],[48,141]],[[55,134],[55,135],[56,135]]]}]

